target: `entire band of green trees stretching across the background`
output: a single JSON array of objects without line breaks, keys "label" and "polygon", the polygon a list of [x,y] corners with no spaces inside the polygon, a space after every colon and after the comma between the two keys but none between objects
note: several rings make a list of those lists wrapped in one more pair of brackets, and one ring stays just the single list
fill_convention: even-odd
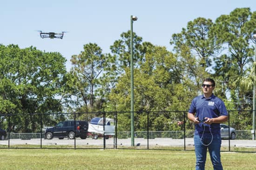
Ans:
[{"label": "entire band of green trees stretching across the background", "polygon": [[[133,33],[135,127],[145,130],[150,112],[150,129],[181,130],[176,121],[187,111],[192,98],[202,93],[202,80],[216,81],[215,95],[228,110],[236,127],[251,128],[255,62],[253,60],[256,12],[236,8],[215,21],[198,17],[170,38],[173,52],[163,46],[142,41]],[[40,117],[23,113],[61,111],[123,111],[119,130],[130,128],[130,30],[103,54],[96,43],[83,46],[73,55],[70,72],[58,52],[41,52],[35,47],[0,45],[0,112],[13,116],[13,131],[38,131]],[[157,112],[158,111],[158,112]],[[154,114],[151,114],[154,113]],[[97,115],[98,114],[92,114]],[[68,117],[72,118],[72,117]],[[88,119],[78,114],[78,118]],[[58,114],[44,115],[44,124],[62,120]],[[1,124],[7,124],[0,118]],[[19,122],[21,122],[20,125]],[[186,124],[187,129],[192,129]]]}]

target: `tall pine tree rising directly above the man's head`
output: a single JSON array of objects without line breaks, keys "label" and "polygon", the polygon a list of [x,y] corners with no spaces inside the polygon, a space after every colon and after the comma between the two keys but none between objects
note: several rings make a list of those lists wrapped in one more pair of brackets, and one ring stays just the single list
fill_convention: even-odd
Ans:
[{"label": "tall pine tree rising directly above the man's head", "polygon": [[221,49],[212,33],[212,26],[210,19],[200,17],[189,21],[187,28],[173,34],[170,40],[182,69],[182,82],[186,82],[185,88],[193,92],[201,93],[202,79],[210,77],[212,59]]}]

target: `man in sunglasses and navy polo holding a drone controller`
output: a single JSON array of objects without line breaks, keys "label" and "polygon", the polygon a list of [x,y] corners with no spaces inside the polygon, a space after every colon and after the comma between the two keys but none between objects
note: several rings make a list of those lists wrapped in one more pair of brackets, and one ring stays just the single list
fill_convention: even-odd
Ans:
[{"label": "man in sunglasses and navy polo holding a drone controller", "polygon": [[195,170],[204,170],[207,148],[214,170],[223,170],[221,163],[220,123],[228,120],[223,101],[213,94],[215,81],[206,78],[202,84],[203,95],[192,100],[188,118],[195,123]]}]

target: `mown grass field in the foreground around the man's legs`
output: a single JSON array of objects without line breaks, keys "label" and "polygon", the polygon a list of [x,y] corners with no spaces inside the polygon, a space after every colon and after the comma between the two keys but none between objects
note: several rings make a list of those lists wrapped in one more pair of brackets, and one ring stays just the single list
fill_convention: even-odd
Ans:
[{"label": "mown grass field in the foreground around the man's legs", "polygon": [[[224,170],[256,170],[256,153],[222,152]],[[206,170],[212,170],[209,155]],[[195,170],[194,151],[0,149],[0,170]]]}]

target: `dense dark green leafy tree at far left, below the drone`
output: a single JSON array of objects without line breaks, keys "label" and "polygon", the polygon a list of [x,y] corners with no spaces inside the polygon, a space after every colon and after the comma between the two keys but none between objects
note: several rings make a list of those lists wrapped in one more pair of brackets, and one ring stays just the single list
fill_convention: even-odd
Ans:
[{"label": "dense dark green leafy tree at far left, below the drone", "polygon": [[[62,111],[65,62],[58,52],[0,45],[0,112],[20,114],[11,117],[12,131],[40,131],[39,115],[33,113]],[[43,121],[47,124],[49,116]]]}]

